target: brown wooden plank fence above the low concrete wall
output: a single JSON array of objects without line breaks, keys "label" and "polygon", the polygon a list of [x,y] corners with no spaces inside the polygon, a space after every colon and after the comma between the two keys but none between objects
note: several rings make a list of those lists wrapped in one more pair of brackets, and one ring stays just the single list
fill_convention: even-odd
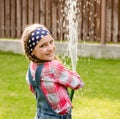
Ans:
[{"label": "brown wooden plank fence above the low concrete wall", "polygon": [[[20,38],[24,27],[41,23],[65,40],[66,0],[0,0],[0,38]],[[120,42],[120,0],[78,0],[79,39]]]}]

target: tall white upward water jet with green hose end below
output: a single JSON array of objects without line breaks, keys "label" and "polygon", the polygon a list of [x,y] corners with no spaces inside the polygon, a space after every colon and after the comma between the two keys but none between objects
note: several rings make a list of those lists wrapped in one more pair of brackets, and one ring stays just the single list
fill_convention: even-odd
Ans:
[{"label": "tall white upward water jet with green hose end below", "polygon": [[[72,70],[76,71],[77,65],[77,44],[78,44],[78,20],[77,20],[77,0],[67,0],[68,7],[68,50],[70,53]],[[73,99],[74,90],[71,91],[70,98]]]}]

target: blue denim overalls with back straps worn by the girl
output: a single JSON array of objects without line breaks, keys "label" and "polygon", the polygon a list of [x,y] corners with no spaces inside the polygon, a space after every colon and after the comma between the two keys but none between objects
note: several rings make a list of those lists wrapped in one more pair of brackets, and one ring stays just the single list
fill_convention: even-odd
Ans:
[{"label": "blue denim overalls with back straps worn by the girl", "polygon": [[40,75],[43,68],[43,64],[39,65],[36,69],[35,81],[32,80],[30,69],[28,72],[29,80],[36,92],[37,112],[35,119],[71,119],[71,112],[66,115],[59,115],[48,104],[46,97],[44,96],[39,84]]}]

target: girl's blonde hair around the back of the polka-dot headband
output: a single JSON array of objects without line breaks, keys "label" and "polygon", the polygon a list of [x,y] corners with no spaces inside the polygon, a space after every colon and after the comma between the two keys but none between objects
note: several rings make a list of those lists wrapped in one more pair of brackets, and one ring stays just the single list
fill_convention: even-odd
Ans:
[{"label": "girl's blonde hair around the back of the polka-dot headband", "polygon": [[[27,58],[30,60],[30,61],[33,61],[35,63],[43,63],[44,61],[38,59],[37,57],[29,54],[28,50],[27,50],[27,43],[28,43],[28,40],[29,40],[29,37],[31,35],[31,33],[36,30],[37,28],[39,27],[45,27],[44,25],[42,24],[32,24],[32,25],[28,25],[27,27],[25,27],[24,31],[23,31],[23,34],[22,34],[22,37],[21,37],[21,40],[22,40],[22,44],[23,44],[23,48],[24,48],[24,53],[25,55],[27,56]],[[46,27],[45,27],[46,28]],[[55,59],[57,59],[57,57],[55,56]]]}]

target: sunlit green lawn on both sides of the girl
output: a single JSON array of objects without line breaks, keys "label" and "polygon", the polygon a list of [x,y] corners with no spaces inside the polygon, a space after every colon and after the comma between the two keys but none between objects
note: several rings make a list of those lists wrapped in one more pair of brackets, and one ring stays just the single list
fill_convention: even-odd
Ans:
[{"label": "sunlit green lawn on both sides of the girl", "polygon": [[[0,52],[0,119],[33,119],[35,99],[26,85],[28,60]],[[73,119],[120,119],[120,59],[79,58],[85,87],[75,91]]]}]

